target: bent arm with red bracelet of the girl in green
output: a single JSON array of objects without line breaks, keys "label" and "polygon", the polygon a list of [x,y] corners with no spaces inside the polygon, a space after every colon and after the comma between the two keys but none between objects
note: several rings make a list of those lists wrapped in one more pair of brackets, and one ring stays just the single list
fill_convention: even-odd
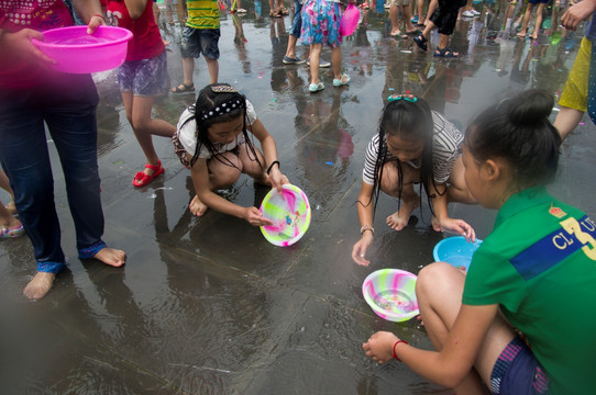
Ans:
[{"label": "bent arm with red bracelet of the girl in green", "polygon": [[[420,350],[399,342],[395,347],[395,353],[419,375],[440,385],[454,388],[474,366],[497,312],[497,304],[462,305],[441,351]],[[394,334],[376,332],[362,347],[367,357],[379,363],[385,363],[393,359],[393,348],[397,340],[399,339]]]}]

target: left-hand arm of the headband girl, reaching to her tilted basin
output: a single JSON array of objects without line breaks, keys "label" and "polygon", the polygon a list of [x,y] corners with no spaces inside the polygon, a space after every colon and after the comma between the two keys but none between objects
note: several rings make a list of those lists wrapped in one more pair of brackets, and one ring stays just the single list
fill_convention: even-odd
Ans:
[{"label": "left-hand arm of the headband girl, reaching to her tilted basin", "polygon": [[221,198],[217,193],[213,193],[209,183],[207,159],[197,159],[190,169],[190,176],[192,177],[192,184],[195,185],[197,196],[199,196],[199,200],[209,208],[245,219],[253,226],[273,225],[271,221],[263,217],[263,214],[258,211],[258,208],[242,207]]}]

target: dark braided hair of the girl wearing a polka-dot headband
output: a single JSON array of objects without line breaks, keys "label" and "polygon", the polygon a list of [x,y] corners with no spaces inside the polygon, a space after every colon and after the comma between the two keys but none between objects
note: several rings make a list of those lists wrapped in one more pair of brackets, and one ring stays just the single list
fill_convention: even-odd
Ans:
[{"label": "dark braided hair of the girl wearing a polka-dot headband", "polygon": [[[222,105],[224,106],[227,103],[232,103],[236,100],[239,100],[241,104],[233,110],[229,112],[213,112],[213,110],[218,109],[219,111]],[[251,160],[254,158],[254,160],[256,160],[263,168],[263,163],[261,163],[258,160],[254,145],[246,132],[246,98],[238,92],[232,86],[224,82],[208,84],[200,90],[195,105],[191,105],[189,111],[192,115],[185,121],[183,126],[192,120],[195,120],[195,124],[197,125],[197,129],[195,132],[195,135],[197,136],[197,146],[195,148],[195,153],[192,154],[192,159],[190,160],[190,167],[192,167],[192,165],[195,165],[199,158],[199,153],[202,146],[207,147],[212,158],[216,158],[224,165],[235,167],[233,162],[218,154],[216,146],[208,138],[207,131],[209,126],[213,124],[229,122],[242,116],[242,134],[244,135],[244,139],[246,142],[246,151],[252,154],[252,157],[251,155],[249,155],[249,157],[251,157]]]}]

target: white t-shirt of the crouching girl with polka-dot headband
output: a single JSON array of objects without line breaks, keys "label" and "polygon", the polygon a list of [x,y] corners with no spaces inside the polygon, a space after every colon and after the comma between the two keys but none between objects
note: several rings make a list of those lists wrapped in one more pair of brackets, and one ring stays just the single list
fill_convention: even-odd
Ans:
[{"label": "white t-shirt of the crouching girl with polka-dot headband", "polygon": [[[195,155],[195,149],[197,148],[197,123],[195,120],[188,121],[194,114],[190,112],[191,108],[186,109],[183,112],[183,115],[180,115],[180,120],[178,121],[177,128],[177,135],[178,140],[183,145],[183,147],[186,149],[186,151],[192,156]],[[188,122],[187,122],[188,121]],[[252,125],[256,121],[256,113],[254,111],[253,104],[246,100],[246,122],[249,125]],[[185,124],[186,122],[186,124]],[[236,136],[236,138],[230,143],[230,144],[213,144],[213,147],[216,148],[216,154],[223,154],[229,150],[234,149],[239,145],[244,143],[244,135],[241,133]],[[211,158],[211,153],[205,145],[201,145],[199,148],[199,158],[201,159],[209,159]]]}]

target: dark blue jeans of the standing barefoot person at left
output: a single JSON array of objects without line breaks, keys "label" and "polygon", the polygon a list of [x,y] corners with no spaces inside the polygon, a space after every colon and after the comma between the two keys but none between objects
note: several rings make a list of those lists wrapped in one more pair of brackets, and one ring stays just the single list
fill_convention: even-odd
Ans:
[{"label": "dark blue jeans of the standing barefoot person at left", "polygon": [[31,242],[37,271],[65,266],[54,179],[44,122],[60,159],[79,258],[106,247],[97,165],[96,106],[91,76],[51,74],[22,90],[0,89],[0,162]]}]

